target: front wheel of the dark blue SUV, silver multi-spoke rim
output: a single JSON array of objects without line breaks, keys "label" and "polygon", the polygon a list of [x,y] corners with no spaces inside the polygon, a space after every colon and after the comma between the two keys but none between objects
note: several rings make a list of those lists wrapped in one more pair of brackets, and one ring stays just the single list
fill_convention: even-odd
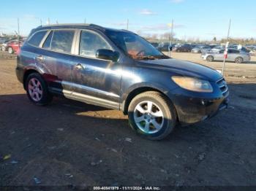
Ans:
[{"label": "front wheel of the dark blue SUV, silver multi-spoke rim", "polygon": [[176,126],[173,104],[159,92],[140,93],[128,108],[129,124],[140,136],[150,140],[165,139]]}]

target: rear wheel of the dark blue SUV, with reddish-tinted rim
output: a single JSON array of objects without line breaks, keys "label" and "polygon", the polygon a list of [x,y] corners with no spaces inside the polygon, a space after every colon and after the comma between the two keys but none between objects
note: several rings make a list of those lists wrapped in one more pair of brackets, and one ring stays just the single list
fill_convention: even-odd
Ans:
[{"label": "rear wheel of the dark blue SUV, with reddish-tinted rim", "polygon": [[38,73],[29,74],[26,79],[26,94],[29,100],[37,105],[46,105],[52,101],[53,96],[48,91],[48,86]]}]

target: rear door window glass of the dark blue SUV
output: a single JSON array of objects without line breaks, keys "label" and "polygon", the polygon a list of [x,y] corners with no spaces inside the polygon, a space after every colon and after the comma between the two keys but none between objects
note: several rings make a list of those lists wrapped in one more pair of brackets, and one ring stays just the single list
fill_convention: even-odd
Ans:
[{"label": "rear door window glass of the dark blue SUV", "polygon": [[74,34],[75,31],[54,31],[50,50],[70,53]]}]

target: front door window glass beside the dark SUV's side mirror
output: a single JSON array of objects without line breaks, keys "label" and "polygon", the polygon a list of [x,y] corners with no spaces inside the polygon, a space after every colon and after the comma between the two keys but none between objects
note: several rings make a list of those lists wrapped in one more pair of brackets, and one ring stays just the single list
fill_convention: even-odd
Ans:
[{"label": "front door window glass beside the dark SUV's side mirror", "polygon": [[79,54],[95,58],[99,49],[112,50],[105,40],[91,31],[82,31],[80,36]]}]

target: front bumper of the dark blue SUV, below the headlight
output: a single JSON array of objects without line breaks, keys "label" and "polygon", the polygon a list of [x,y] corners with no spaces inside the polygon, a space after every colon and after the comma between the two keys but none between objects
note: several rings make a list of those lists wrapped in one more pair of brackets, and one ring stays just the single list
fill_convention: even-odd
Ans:
[{"label": "front bumper of the dark blue SUV, below the headlight", "polygon": [[181,125],[189,125],[213,117],[223,109],[227,109],[228,104],[228,96],[216,99],[179,96],[174,101]]}]

